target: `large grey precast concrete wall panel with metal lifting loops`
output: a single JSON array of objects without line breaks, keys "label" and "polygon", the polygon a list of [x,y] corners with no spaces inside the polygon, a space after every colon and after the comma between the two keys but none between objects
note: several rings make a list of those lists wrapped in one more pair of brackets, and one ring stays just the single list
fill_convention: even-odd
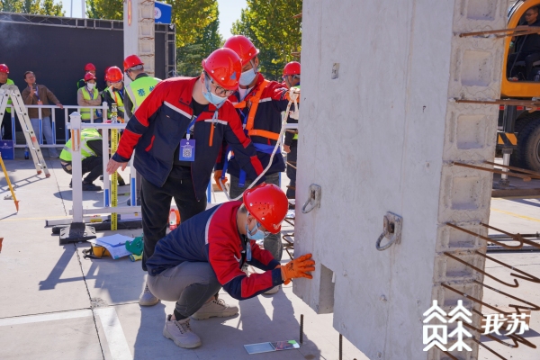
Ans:
[{"label": "large grey precast concrete wall panel with metal lifting loops", "polygon": [[[506,0],[307,1],[302,12],[302,112],[295,252],[313,253],[313,280],[293,291],[372,359],[442,359],[423,352],[423,313],[482,298],[503,42],[459,37],[505,27]],[[320,208],[303,214],[310,184]],[[401,243],[375,249],[387,211],[403,218]],[[385,240],[383,240],[385,241]],[[464,301],[469,309],[472,302]],[[474,305],[475,306],[475,305]],[[475,306],[475,309],[480,310]],[[474,324],[478,328],[479,319]],[[459,354],[473,359],[473,352]],[[454,353],[453,353],[454,354]]]}]

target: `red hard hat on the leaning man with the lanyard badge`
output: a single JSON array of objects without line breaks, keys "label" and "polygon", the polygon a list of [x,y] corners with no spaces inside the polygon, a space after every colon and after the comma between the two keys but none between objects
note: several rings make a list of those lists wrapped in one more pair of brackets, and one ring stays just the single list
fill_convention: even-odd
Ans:
[{"label": "red hard hat on the leaning man with the lanyard badge", "polygon": [[227,90],[238,89],[242,65],[238,55],[231,49],[214,50],[202,60],[202,68],[221,87]]}]

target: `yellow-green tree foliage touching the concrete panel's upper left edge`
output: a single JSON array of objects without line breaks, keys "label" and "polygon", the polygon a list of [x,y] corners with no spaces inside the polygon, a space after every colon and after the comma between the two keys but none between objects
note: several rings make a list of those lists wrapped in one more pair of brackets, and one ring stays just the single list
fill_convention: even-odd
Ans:
[{"label": "yellow-green tree foliage touching the concrete panel's upper left edge", "polygon": [[247,8],[230,32],[253,41],[260,50],[260,71],[278,80],[285,64],[298,60],[291,53],[301,49],[301,19],[293,19],[293,15],[300,13],[299,0],[247,0]]}]

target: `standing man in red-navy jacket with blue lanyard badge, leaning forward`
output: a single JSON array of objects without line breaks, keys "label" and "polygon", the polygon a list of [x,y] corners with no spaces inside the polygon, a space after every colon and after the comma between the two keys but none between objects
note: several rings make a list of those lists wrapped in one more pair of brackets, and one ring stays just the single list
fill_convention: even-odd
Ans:
[{"label": "standing man in red-navy jacket with blue lanyard badge, leaning forward", "polygon": [[[157,241],[165,237],[171,200],[175,198],[182,221],[206,209],[206,189],[223,141],[250,176],[255,178],[263,170],[238,113],[227,100],[238,88],[238,55],[217,49],[202,61],[202,68],[201,76],[172,77],[156,86],[128,121],[107,165],[109,174],[120,166],[124,169],[136,149],[134,166],[142,175],[145,271]],[[145,286],[139,304],[157,302]]]}]

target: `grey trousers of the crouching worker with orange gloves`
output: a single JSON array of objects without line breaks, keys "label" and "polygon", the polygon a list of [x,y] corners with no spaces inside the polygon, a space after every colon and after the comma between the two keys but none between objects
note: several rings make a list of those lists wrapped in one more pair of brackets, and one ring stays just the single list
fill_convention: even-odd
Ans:
[{"label": "grey trousers of the crouching worker with orange gloves", "polygon": [[148,275],[147,284],[158,299],[176,302],[175,311],[184,318],[201,309],[221,288],[210,263],[187,261],[157,276]]}]

